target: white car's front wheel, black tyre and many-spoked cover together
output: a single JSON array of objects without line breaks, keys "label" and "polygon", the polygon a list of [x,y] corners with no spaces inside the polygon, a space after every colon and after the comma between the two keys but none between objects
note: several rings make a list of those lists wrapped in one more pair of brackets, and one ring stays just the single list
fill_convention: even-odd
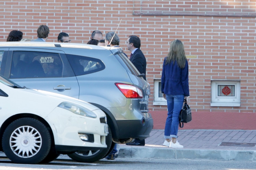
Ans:
[{"label": "white car's front wheel, black tyre and many-spoked cover together", "polygon": [[14,163],[37,164],[50,151],[51,135],[39,120],[20,118],[5,129],[2,147],[5,155]]}]

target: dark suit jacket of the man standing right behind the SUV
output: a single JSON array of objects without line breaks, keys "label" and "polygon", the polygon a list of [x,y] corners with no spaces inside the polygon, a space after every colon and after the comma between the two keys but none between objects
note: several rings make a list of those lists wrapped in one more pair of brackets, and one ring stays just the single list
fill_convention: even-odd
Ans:
[{"label": "dark suit jacket of the man standing right behind the SUV", "polygon": [[134,51],[132,56],[130,57],[130,61],[132,64],[139,70],[139,72],[142,74],[144,73],[145,75],[143,78],[146,80],[146,67],[147,67],[147,62],[144,54],[142,51],[138,48],[137,50]]}]

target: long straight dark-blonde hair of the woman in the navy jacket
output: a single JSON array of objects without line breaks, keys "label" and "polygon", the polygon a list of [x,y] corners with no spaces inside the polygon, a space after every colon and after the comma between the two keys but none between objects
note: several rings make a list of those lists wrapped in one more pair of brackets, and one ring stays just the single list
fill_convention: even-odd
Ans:
[{"label": "long straight dark-blonde hair of the woman in the navy jacket", "polygon": [[181,40],[175,39],[170,44],[170,51],[167,55],[165,64],[166,65],[170,64],[172,61],[174,64],[174,62],[176,61],[180,68],[184,68],[186,64],[186,60],[187,58],[186,58],[184,46]]}]

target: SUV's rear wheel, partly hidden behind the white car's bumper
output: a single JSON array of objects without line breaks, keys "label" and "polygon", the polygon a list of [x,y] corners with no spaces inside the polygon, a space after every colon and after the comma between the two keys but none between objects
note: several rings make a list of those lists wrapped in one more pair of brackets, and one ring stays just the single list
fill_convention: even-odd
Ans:
[{"label": "SUV's rear wheel, partly hidden behind the white car's bumper", "polygon": [[110,128],[109,128],[109,134],[108,136],[106,136],[106,145],[107,145],[107,148],[105,149],[91,150],[91,151],[85,151],[85,152],[75,152],[72,154],[68,154],[68,156],[77,162],[84,162],[84,163],[92,163],[104,158],[105,156],[107,156],[108,153],[110,153],[109,151],[112,150],[114,147],[114,145],[112,147],[112,133]]}]

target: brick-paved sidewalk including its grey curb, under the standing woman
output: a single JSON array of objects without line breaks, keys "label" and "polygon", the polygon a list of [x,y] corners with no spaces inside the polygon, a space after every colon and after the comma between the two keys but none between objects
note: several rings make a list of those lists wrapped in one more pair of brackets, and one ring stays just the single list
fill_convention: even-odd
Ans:
[{"label": "brick-paved sidewalk including its grey curb, under the standing woman", "polygon": [[121,144],[118,157],[256,161],[256,130],[179,130],[181,149],[163,146],[163,135],[153,129],[145,146]]}]

